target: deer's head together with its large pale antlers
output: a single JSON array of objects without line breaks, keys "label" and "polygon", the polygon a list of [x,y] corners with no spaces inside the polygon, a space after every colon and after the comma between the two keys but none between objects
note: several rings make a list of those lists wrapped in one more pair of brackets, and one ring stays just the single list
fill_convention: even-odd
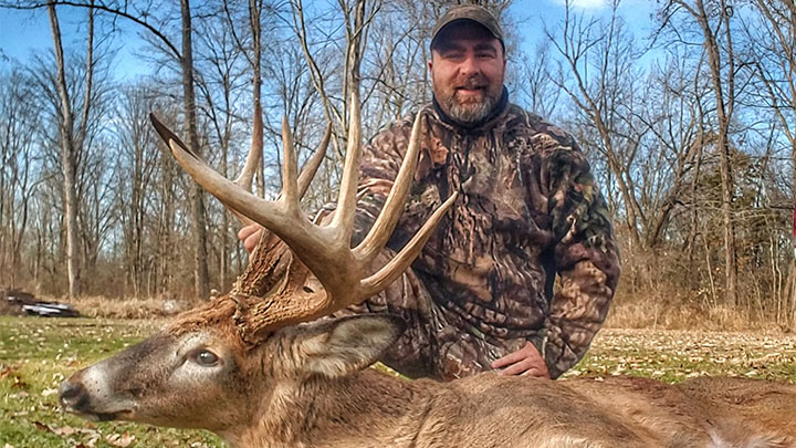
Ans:
[{"label": "deer's head together with its large pale antlers", "polygon": [[[386,265],[371,263],[386,244],[406,201],[419,152],[420,114],[401,169],[379,218],[350,247],[362,146],[359,103],[352,95],[346,163],[337,208],[312,222],[300,200],[320,165],[324,143],[298,176],[283,121],[283,188],[268,201],[248,191],[256,155],[237,181],[209,168],[166,126],[153,124],[177,162],[244,222],[265,233],[233,289],[176,317],[164,331],[118,355],[75,373],[61,404],[96,419],[126,419],[218,433],[251,423],[279,402],[280,389],[308,376],[337,378],[375,362],[400,333],[388,316],[305,324],[386,288],[419,253],[455,196],[446,201]],[[201,411],[199,411],[201,409]]]}]

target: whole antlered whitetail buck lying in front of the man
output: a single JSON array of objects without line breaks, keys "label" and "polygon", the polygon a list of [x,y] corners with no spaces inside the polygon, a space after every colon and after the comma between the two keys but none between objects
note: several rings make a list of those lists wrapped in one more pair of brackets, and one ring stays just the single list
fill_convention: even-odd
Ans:
[{"label": "whole antlered whitetail buck lying in front of the man", "polygon": [[[353,96],[350,123],[358,124]],[[400,275],[455,200],[449,198],[395,259],[369,274],[404,207],[420,121],[381,216],[354,249],[358,126],[352,125],[348,136],[336,212],[327,226],[318,226],[298,202],[324,144],[297,176],[283,125],[284,187],[269,202],[240,186],[251,183],[255,157],[249,157],[237,185],[154,123],[199,184],[271,233],[230,293],[64,382],[60,399],[67,410],[101,420],[205,428],[233,446],[256,448],[796,447],[796,385],[790,384],[553,382],[494,373],[437,383],[367,368],[400,334],[396,317],[306,322],[363,301]]]}]

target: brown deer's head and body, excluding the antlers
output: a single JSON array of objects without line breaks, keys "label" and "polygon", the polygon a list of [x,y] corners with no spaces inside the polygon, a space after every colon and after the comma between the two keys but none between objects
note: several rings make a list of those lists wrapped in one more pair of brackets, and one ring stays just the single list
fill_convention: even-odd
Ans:
[{"label": "brown deer's head and body, excluding the antlers", "polygon": [[[366,368],[400,334],[394,317],[291,326],[245,354],[219,348],[232,336],[224,325],[184,325],[78,372],[62,402],[95,418],[210,429],[242,448],[796,447],[794,385],[494,373],[405,381]],[[198,365],[190,354],[202,347],[219,362]],[[136,367],[153,358],[169,367]]]}]

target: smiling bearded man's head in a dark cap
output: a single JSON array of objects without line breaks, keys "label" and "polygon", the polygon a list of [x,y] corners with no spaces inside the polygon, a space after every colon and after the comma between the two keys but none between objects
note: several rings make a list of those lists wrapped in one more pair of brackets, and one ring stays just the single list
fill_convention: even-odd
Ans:
[{"label": "smiling bearded man's head in a dark cap", "polygon": [[462,123],[486,117],[503,94],[503,46],[475,22],[461,21],[442,29],[431,49],[429,70],[437,102]]}]

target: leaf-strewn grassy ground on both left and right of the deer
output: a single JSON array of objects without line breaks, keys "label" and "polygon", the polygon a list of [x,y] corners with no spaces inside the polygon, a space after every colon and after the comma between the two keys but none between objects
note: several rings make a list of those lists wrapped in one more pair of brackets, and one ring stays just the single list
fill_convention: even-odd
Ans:
[{"label": "leaf-strewn grassy ground on both left and right of the deer", "polygon": [[[157,326],[157,321],[0,316],[0,448],[221,447],[206,431],[93,424],[60,410],[57,386],[67,375]],[[796,335],[604,330],[565,376],[586,374],[667,382],[744,375],[796,383]]]}]

